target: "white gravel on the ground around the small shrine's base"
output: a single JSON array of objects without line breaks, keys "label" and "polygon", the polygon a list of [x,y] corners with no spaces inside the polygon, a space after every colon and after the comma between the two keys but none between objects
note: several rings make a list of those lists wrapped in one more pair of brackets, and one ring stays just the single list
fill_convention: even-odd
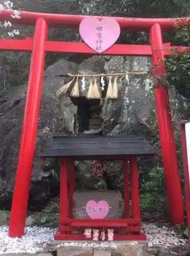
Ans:
[{"label": "white gravel on the ground around the small shrine's base", "polygon": [[[186,245],[187,240],[179,238],[174,231],[169,230],[167,227],[157,227],[153,224],[143,225],[142,230],[148,237],[148,246],[164,245]],[[0,255],[6,253],[35,253],[40,251],[43,247],[49,246],[54,241],[54,234],[57,229],[44,228],[44,227],[26,227],[25,234],[21,238],[10,238],[7,235],[8,227],[0,227]],[[90,246],[90,247],[113,247],[118,246],[117,243],[64,243],[63,246]]]}]

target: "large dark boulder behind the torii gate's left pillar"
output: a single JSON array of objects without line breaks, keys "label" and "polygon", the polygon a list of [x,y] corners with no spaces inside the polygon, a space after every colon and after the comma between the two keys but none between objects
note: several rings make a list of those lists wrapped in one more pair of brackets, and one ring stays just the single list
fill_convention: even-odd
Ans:
[{"label": "large dark boulder behind the torii gate's left pillar", "polygon": [[[50,161],[42,164],[38,155],[53,134],[74,134],[76,107],[68,97],[58,101],[55,92],[62,82],[67,82],[63,76],[77,74],[78,68],[62,59],[45,71],[29,196],[33,210],[40,210],[59,193],[55,165]],[[11,207],[26,95],[24,84],[13,87],[0,99],[0,209]]]}]

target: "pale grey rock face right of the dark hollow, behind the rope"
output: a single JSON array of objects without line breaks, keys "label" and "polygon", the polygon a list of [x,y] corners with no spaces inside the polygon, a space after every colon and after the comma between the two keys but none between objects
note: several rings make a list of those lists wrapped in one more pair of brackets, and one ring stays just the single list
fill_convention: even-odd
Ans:
[{"label": "pale grey rock face right of the dark hollow, behind the rope", "polygon": [[[107,73],[125,71],[148,71],[150,69],[149,58],[138,57],[112,57],[105,63]],[[116,100],[105,100],[102,105],[101,116],[103,118],[103,130],[105,133],[127,134],[130,127],[138,120],[149,119],[152,102],[149,90],[145,87],[145,81],[141,77],[128,76],[129,84],[125,76],[118,80],[119,97]],[[150,86],[150,85],[149,85]],[[128,126],[128,127],[127,127]]]}]

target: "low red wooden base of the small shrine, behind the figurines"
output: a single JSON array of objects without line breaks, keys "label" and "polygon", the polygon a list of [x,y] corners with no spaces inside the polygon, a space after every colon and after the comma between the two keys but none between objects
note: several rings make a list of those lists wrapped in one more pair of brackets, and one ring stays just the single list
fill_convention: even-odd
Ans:
[{"label": "low red wooden base of the small shrine, behind the figurines", "polygon": [[83,235],[85,228],[98,228],[101,232],[102,227],[106,234],[108,228],[114,229],[115,241],[146,241],[146,235],[141,232],[140,219],[60,219],[55,240],[90,241],[92,238]]}]

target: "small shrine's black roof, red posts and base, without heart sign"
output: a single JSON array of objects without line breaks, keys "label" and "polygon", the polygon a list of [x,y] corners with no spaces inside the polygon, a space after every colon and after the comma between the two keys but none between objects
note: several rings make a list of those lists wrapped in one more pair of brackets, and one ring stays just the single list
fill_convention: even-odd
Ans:
[{"label": "small shrine's black roof, red posts and base, without heart sign", "polygon": [[[84,236],[84,230],[92,228],[105,230],[105,233],[108,229],[113,229],[114,240],[146,240],[146,236],[141,232],[137,157],[156,154],[156,150],[144,137],[134,135],[53,137],[40,156],[60,159],[60,210],[58,234],[55,239],[91,240],[92,237]],[[74,219],[74,161],[102,159],[123,161],[124,218]]]}]

